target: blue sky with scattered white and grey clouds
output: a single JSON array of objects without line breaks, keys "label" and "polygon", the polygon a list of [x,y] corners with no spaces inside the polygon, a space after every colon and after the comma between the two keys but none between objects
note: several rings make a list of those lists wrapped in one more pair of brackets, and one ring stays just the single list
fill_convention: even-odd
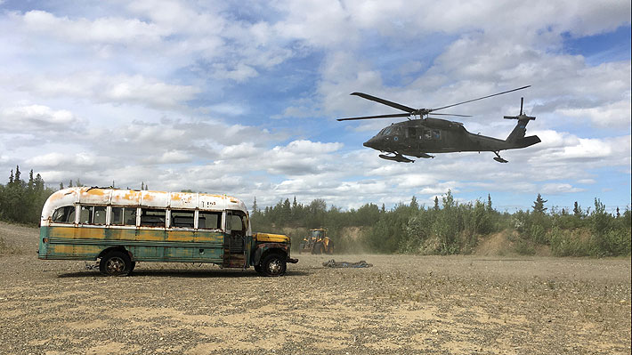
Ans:
[{"label": "blue sky with scattered white and grey clouds", "polygon": [[[498,210],[630,205],[630,4],[623,1],[0,0],[0,172],[58,186],[228,193],[247,205]],[[505,138],[520,98],[541,143],[401,164],[362,147],[396,120],[350,96],[455,109]]]}]

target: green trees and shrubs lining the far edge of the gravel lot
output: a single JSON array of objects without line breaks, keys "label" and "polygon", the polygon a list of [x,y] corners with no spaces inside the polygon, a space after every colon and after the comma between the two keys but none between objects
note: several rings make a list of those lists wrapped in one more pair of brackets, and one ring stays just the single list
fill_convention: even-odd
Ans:
[{"label": "green trees and shrubs lining the far edge of the gravel lot", "polygon": [[[82,186],[78,180],[74,185]],[[54,191],[33,170],[24,180],[16,166],[9,182],[0,184],[0,220],[36,226]],[[482,240],[502,233],[515,254],[536,254],[544,247],[555,256],[630,255],[629,206],[611,214],[599,198],[587,208],[575,202],[572,211],[549,209],[546,203],[538,194],[530,209],[509,214],[497,211],[489,195],[487,200],[459,203],[448,191],[435,198],[433,206],[420,206],[412,197],[408,204],[390,209],[371,203],[342,210],[321,198],[304,205],[295,197],[260,208],[255,198],[250,211],[254,231],[288,234],[293,246],[309,229],[326,228],[336,253],[472,254]]]}]

